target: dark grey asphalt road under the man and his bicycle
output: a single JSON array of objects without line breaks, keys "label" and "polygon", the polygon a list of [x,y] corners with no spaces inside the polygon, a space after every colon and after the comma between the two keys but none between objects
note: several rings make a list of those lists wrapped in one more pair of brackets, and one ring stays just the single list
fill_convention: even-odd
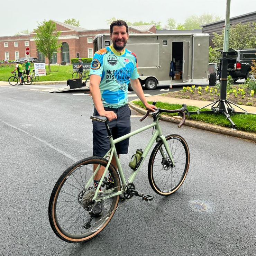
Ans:
[{"label": "dark grey asphalt road under the man and his bicycle", "polygon": [[[165,121],[163,133],[180,134],[190,148],[181,188],[155,194],[145,161],[134,183],[153,201],[124,203],[88,243],[57,238],[49,197],[68,166],[92,155],[92,111],[86,94],[0,87],[0,255],[255,255],[255,143]],[[138,117],[132,115],[132,130],[152,121]],[[130,139],[121,158],[126,177],[131,155],[150,134]]]}]

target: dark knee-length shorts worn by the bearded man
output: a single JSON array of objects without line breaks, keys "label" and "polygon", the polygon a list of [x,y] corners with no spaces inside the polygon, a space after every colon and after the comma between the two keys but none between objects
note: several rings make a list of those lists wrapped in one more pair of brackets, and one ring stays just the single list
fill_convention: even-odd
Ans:
[{"label": "dark knee-length shorts worn by the bearded man", "polygon": [[[117,119],[113,119],[108,123],[113,139],[119,138],[128,134],[131,131],[131,110],[126,104],[117,109],[104,108],[107,111],[114,111],[117,113]],[[93,116],[99,116],[99,113],[94,108]],[[103,122],[92,121],[93,134],[93,156],[103,157],[110,149],[110,142],[106,125]],[[129,138],[115,144],[117,154],[127,154],[129,147]]]}]

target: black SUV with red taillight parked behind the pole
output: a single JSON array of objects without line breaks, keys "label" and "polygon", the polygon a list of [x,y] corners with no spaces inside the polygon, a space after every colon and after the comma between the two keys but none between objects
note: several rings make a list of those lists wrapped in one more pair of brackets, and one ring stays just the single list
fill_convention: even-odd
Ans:
[{"label": "black SUV with red taillight parked behind the pole", "polygon": [[[228,51],[230,59],[228,60],[228,75],[231,75],[234,82],[238,79],[254,79],[254,75],[250,73],[252,60],[256,60],[256,48]],[[219,64],[219,70],[221,70],[221,61]],[[220,75],[220,74],[219,74]]]}]

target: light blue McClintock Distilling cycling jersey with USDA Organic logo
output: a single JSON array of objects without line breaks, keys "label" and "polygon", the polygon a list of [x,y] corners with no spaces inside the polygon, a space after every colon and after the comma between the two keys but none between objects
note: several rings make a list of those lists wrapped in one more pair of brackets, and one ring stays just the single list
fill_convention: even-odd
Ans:
[{"label": "light blue McClintock Distilling cycling jersey with USDA Organic logo", "polygon": [[103,106],[120,108],[128,103],[129,80],[139,77],[136,55],[127,49],[119,53],[113,45],[101,49],[93,56],[90,75],[101,76]]}]

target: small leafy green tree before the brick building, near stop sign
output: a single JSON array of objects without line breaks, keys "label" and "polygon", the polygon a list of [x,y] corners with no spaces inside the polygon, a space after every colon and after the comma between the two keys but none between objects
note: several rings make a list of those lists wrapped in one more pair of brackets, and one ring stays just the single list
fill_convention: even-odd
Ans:
[{"label": "small leafy green tree before the brick building, near stop sign", "polygon": [[58,48],[62,45],[58,42],[61,31],[55,31],[56,24],[52,20],[37,23],[39,26],[36,29],[35,44],[38,51],[48,58],[49,72],[51,72],[50,60],[54,52],[60,52]]}]

